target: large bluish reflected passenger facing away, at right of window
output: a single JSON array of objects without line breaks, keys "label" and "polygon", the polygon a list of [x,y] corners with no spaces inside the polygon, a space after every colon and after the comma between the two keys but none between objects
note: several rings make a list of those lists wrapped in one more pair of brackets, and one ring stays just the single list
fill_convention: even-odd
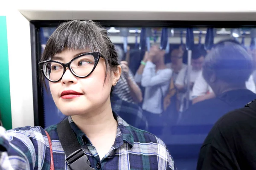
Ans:
[{"label": "large bluish reflected passenger facing away, at right of window", "polygon": [[255,99],[256,94],[246,88],[251,72],[252,58],[238,42],[217,43],[207,54],[203,66],[203,77],[216,97],[192,105],[183,113],[180,124],[212,127],[225,113]]}]

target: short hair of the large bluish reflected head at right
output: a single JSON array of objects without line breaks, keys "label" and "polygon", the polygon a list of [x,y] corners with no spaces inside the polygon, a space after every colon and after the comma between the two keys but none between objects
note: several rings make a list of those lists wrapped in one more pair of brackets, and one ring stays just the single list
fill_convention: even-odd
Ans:
[{"label": "short hair of the large bluish reflected head at right", "polygon": [[205,57],[204,78],[209,81],[213,72],[218,79],[230,84],[246,82],[253,71],[253,60],[239,42],[223,40],[218,42]]}]

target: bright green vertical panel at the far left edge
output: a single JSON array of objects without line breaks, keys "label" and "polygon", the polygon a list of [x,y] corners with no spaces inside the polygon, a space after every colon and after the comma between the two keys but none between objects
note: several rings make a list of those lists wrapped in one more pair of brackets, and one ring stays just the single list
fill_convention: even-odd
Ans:
[{"label": "bright green vertical panel at the far left edge", "polygon": [[12,129],[6,16],[0,16],[0,112],[3,127]]}]

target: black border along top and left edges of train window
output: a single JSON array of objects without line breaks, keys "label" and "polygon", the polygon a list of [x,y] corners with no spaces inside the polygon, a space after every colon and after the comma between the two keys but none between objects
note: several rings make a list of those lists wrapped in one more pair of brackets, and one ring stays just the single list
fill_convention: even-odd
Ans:
[{"label": "black border along top and left edges of train window", "polygon": [[[42,85],[39,80],[38,62],[41,55],[39,29],[41,27],[57,27],[69,20],[31,20],[31,57],[32,57],[32,85],[35,126],[44,128],[44,103]],[[166,21],[166,20],[94,20],[104,27],[170,27],[170,28],[241,28],[256,27],[255,21]]]}]

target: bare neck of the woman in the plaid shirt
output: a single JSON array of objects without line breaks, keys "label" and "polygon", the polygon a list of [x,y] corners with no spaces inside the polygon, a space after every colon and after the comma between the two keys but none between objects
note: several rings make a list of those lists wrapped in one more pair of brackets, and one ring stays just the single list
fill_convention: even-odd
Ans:
[{"label": "bare neck of the woman in the plaid shirt", "polygon": [[117,130],[117,121],[113,116],[110,101],[105,107],[87,114],[72,116],[72,119],[89,139]]}]

